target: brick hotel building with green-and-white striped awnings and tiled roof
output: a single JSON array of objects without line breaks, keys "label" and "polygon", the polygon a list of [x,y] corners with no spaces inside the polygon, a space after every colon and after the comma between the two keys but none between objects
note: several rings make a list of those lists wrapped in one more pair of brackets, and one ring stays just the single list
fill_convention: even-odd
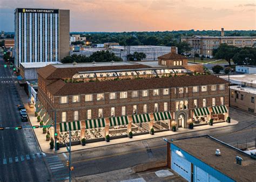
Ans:
[{"label": "brick hotel building with green-and-white striped awnings and tiled roof", "polygon": [[60,143],[69,129],[72,142],[97,142],[226,120],[227,81],[201,73],[203,65],[174,48],[158,59],[48,65],[38,70],[36,110],[45,125],[56,119]]}]

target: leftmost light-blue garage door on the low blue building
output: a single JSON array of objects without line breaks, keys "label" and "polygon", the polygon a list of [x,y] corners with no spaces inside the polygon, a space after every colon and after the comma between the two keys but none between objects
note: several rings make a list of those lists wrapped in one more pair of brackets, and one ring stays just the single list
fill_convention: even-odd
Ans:
[{"label": "leftmost light-blue garage door on the low blue building", "polygon": [[180,157],[177,153],[172,151],[172,170],[177,172],[181,177],[190,181],[191,179],[191,163],[188,160]]}]

